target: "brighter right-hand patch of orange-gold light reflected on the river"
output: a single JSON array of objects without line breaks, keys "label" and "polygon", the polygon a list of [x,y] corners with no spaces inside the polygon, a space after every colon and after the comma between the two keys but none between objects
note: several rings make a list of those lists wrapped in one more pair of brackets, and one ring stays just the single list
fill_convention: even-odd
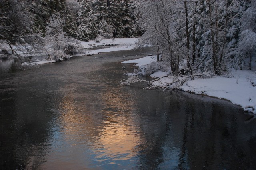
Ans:
[{"label": "brighter right-hand patch of orange-gold light reflected on the river", "polygon": [[[102,94],[102,102],[106,119],[99,134],[97,146],[101,146],[101,149],[96,150],[96,158],[98,161],[106,157],[112,161],[129,160],[134,156],[132,150],[139,140],[132,126],[133,100],[129,94],[121,94],[119,90],[107,90]],[[102,149],[104,152],[101,152]]]}]

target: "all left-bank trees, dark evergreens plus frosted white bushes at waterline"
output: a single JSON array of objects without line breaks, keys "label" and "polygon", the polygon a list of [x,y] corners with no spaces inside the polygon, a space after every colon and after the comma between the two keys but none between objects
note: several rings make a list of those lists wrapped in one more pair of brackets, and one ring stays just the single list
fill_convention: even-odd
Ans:
[{"label": "all left-bank trees, dark evergreens plus frosted white bushes at waterline", "polygon": [[2,0],[1,53],[69,58],[78,40],[137,37],[132,0]]}]

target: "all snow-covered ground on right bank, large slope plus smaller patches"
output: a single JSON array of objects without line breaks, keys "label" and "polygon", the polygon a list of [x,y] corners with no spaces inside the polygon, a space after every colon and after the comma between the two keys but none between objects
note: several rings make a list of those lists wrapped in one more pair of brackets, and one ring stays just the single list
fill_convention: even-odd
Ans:
[{"label": "all snow-covered ground on right bank, large slope plus smaller patches", "polygon": [[[145,66],[156,57],[147,56],[136,60],[122,62],[136,63],[136,66]],[[157,71],[150,76],[162,77],[167,72]],[[163,77],[158,81],[152,82],[153,86],[166,86],[176,80],[174,77]],[[254,86],[253,86],[254,85]],[[240,105],[244,111],[256,114],[256,71],[251,70],[234,70],[229,76],[214,76],[212,78],[195,78],[188,80],[179,87],[183,91],[194,92],[195,94],[204,94],[216,98],[224,98],[230,102]]]}]

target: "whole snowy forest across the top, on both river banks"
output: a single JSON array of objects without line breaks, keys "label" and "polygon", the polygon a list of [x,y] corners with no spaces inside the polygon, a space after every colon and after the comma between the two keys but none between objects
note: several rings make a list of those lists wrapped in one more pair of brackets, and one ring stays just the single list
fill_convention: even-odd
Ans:
[{"label": "whole snowy forest across the top, on both river banks", "polygon": [[127,37],[140,37],[138,47],[154,46],[172,75],[250,70],[256,1],[1,1],[2,55],[44,53],[58,61],[78,53],[80,41]]}]

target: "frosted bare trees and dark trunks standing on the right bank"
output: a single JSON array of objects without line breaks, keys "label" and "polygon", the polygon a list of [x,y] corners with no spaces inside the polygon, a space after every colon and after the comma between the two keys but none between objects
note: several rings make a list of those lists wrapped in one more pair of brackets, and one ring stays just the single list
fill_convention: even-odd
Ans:
[{"label": "frosted bare trees and dark trunks standing on the right bank", "polygon": [[140,44],[153,44],[172,74],[251,69],[255,0],[134,0],[134,9],[145,30]]}]

